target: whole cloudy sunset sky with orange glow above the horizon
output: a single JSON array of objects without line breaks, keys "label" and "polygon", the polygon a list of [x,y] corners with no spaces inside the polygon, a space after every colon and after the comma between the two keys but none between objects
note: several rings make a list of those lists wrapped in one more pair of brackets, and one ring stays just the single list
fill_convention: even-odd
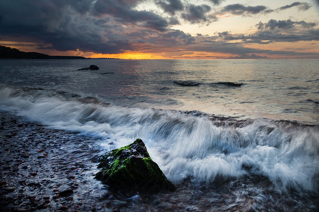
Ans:
[{"label": "whole cloudy sunset sky with orange glow above the horizon", "polygon": [[91,58],[319,58],[319,0],[0,0],[0,45]]}]

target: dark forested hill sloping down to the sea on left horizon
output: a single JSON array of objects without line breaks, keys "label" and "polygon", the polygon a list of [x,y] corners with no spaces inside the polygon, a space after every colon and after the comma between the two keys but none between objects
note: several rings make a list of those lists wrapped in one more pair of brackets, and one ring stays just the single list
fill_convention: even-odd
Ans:
[{"label": "dark forested hill sloping down to the sea on left horizon", "polygon": [[86,59],[79,56],[50,56],[38,52],[24,52],[15,48],[0,46],[0,59]]}]

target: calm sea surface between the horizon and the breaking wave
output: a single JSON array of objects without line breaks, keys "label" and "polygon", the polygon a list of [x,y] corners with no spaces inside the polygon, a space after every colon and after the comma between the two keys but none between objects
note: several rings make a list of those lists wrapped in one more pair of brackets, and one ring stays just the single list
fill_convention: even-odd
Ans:
[{"label": "calm sea surface between the horizon and the breaking wave", "polygon": [[121,106],[319,123],[319,60],[1,60],[0,73]]}]

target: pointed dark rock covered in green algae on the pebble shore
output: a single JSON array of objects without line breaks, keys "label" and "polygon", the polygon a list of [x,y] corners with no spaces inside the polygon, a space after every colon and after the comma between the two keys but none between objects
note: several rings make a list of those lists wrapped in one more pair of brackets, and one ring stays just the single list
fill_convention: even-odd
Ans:
[{"label": "pointed dark rock covered in green algae on the pebble shore", "polygon": [[152,161],[141,139],[102,155],[98,161],[101,171],[95,178],[119,191],[155,193],[176,189]]}]

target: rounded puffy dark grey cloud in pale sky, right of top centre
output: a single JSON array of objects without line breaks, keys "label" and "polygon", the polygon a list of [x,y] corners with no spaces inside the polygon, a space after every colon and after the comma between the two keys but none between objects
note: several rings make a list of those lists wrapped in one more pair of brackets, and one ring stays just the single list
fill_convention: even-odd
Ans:
[{"label": "rounded puffy dark grey cloud in pale sky, right of top centre", "polygon": [[210,24],[218,20],[216,16],[208,14],[210,11],[211,7],[207,4],[189,4],[182,13],[182,18],[191,24]]}]

